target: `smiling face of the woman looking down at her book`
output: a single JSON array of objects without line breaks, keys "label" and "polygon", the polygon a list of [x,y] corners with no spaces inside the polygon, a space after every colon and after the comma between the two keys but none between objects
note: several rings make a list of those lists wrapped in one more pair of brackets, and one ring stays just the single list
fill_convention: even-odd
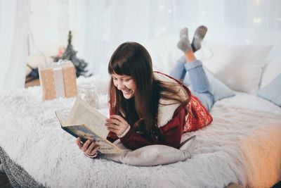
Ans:
[{"label": "smiling face of the woman looking down at her book", "polygon": [[114,73],[112,74],[112,79],[115,87],[123,93],[125,99],[131,99],[135,96],[136,82],[133,80],[133,77]]}]

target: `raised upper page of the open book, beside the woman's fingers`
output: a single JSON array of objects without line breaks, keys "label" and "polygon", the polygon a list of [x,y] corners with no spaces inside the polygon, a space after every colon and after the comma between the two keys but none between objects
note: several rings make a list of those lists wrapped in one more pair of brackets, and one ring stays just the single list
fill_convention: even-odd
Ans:
[{"label": "raised upper page of the open book, beside the woman's fingers", "polygon": [[72,111],[67,118],[67,125],[88,125],[91,127],[91,130],[106,139],[109,132],[105,126],[106,119],[105,115],[77,96]]}]

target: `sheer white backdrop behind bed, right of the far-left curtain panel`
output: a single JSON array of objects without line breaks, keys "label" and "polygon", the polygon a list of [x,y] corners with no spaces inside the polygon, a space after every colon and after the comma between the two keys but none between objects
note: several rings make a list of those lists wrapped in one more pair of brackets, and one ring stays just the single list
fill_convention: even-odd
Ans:
[{"label": "sheer white backdrop behind bed, right of the far-left curtain panel", "polygon": [[122,42],[178,35],[182,27],[192,35],[199,25],[207,25],[209,40],[273,44],[270,56],[281,56],[279,0],[32,0],[30,21],[30,62],[44,61],[39,51],[55,55],[72,30],[74,49],[93,73],[106,69]]}]

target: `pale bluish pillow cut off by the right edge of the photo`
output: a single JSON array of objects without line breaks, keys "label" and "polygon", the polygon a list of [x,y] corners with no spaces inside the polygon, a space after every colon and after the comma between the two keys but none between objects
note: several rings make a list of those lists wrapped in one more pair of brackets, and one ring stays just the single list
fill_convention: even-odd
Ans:
[{"label": "pale bluish pillow cut off by the right edge of the photo", "polygon": [[261,77],[261,88],[266,87],[277,75],[281,73],[281,58],[275,58],[266,63]]}]

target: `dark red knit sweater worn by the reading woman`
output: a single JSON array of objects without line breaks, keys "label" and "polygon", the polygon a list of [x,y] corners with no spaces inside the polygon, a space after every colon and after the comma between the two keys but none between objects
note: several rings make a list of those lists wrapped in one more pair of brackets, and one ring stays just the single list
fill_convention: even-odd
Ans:
[{"label": "dark red knit sweater worn by the reading woman", "polygon": [[[157,73],[163,75],[162,73]],[[174,80],[176,83],[180,84],[181,87],[185,89],[185,91],[190,94],[190,90],[188,87],[185,87],[181,82],[175,80],[173,77],[169,77],[168,75],[164,75],[166,79]],[[174,113],[168,118],[169,121],[165,125],[158,125],[159,131],[162,134],[162,142],[160,142],[157,138],[148,138],[144,137],[143,134],[135,132],[133,128],[127,132],[124,137],[120,139],[122,144],[129,149],[138,149],[143,146],[148,146],[152,144],[164,144],[167,146],[172,146],[174,148],[178,148],[181,144],[181,136],[183,132],[191,132],[198,130],[204,126],[211,124],[213,118],[207,111],[207,109],[202,105],[202,103],[197,99],[197,97],[190,94],[189,102],[187,106],[183,106],[183,104],[179,104],[179,106],[174,110]],[[110,106],[112,106],[110,104]],[[168,108],[168,107],[159,107],[159,108]],[[187,110],[188,109],[188,110]],[[110,108],[110,115],[112,115],[112,108]],[[163,115],[163,114],[162,114]],[[166,115],[166,114],[164,114]],[[113,132],[109,132],[107,139],[111,142],[118,139],[117,135]]]}]

